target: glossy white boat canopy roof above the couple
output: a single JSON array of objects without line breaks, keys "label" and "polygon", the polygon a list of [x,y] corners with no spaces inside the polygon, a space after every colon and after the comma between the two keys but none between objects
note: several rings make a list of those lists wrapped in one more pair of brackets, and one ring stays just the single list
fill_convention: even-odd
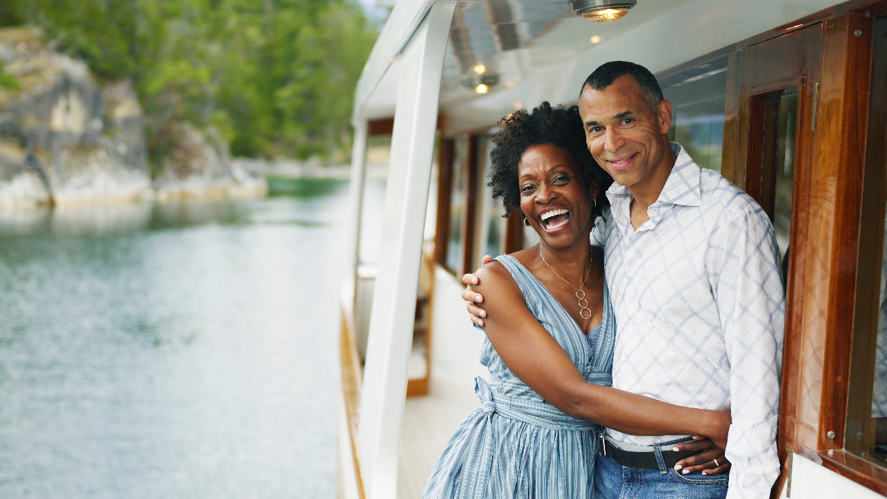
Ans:
[{"label": "glossy white boat canopy roof above the couple", "polygon": [[[357,83],[355,120],[394,115],[398,55],[434,4],[454,4],[440,91],[447,134],[490,127],[515,108],[575,102],[608,60],[662,75],[687,61],[819,12],[835,0],[638,0],[622,19],[593,22],[566,0],[400,0]],[[483,75],[478,74],[483,65]],[[475,87],[487,83],[484,94]]]}]

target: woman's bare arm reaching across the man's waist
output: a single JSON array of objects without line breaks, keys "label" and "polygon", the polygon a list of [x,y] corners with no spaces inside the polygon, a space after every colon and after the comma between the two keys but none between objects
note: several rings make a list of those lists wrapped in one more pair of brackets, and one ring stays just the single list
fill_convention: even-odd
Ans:
[{"label": "woman's bare arm reaching across the man's waist", "polygon": [[486,331],[515,376],[570,416],[633,435],[704,435],[726,447],[729,409],[684,408],[608,386],[588,383],[561,345],[527,308],[504,266],[484,265],[474,289],[486,299]]}]

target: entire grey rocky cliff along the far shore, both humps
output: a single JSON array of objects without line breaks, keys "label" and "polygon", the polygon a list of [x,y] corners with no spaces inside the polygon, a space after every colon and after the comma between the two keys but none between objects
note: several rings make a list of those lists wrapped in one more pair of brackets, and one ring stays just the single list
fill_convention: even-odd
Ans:
[{"label": "entire grey rocky cliff along the far shore, both humps", "polygon": [[188,123],[149,175],[141,106],[129,82],[98,83],[81,61],[28,29],[0,29],[0,207],[145,197],[263,194],[263,179],[232,169],[227,147]]}]

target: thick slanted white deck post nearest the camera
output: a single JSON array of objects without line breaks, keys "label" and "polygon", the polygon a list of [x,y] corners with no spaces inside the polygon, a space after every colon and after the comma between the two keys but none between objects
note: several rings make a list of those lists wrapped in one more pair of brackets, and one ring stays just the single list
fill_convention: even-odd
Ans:
[{"label": "thick slanted white deck post nearest the camera", "polygon": [[358,453],[371,499],[396,497],[397,449],[434,155],[443,55],[456,1],[433,4],[399,56],[379,273],[373,291]]}]

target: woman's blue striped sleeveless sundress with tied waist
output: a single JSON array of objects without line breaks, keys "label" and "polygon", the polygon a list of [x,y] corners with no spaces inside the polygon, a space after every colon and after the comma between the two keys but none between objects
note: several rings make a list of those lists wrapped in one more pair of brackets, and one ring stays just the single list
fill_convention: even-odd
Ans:
[{"label": "woman's blue striped sleeveless sundress with tied waist", "polygon": [[[606,283],[600,326],[586,337],[563,306],[514,257],[496,258],[523,293],[530,312],[551,333],[589,383],[612,384],[616,318]],[[600,428],[554,408],[514,376],[484,339],[481,363],[490,382],[475,378],[482,408],[453,434],[422,497],[459,499],[593,496]]]}]

